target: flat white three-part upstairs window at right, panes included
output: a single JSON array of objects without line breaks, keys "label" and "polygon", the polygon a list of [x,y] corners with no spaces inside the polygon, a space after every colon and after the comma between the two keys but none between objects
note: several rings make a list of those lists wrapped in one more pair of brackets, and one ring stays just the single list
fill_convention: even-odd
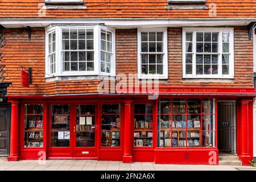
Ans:
[{"label": "flat white three-part upstairs window at right, panes included", "polygon": [[234,78],[233,28],[183,28],[183,78]]}]

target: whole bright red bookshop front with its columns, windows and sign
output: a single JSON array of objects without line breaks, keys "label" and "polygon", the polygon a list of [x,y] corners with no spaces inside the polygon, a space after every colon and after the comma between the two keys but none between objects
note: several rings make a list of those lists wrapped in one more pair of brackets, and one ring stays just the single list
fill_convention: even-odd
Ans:
[{"label": "whole bright red bookshop front with its columns, windows and sign", "polygon": [[[148,100],[146,93],[7,96],[8,159],[217,165],[220,100],[237,102],[237,155],[243,165],[253,158],[255,89],[159,90],[156,100]],[[205,118],[211,122],[206,128]]]}]

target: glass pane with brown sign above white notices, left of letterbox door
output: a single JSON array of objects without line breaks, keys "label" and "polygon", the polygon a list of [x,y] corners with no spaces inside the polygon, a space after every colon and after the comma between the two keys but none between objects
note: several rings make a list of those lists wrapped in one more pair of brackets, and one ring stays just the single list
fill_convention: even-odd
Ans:
[{"label": "glass pane with brown sign above white notices, left of letterbox door", "polygon": [[69,147],[69,105],[52,105],[51,111],[51,146]]}]

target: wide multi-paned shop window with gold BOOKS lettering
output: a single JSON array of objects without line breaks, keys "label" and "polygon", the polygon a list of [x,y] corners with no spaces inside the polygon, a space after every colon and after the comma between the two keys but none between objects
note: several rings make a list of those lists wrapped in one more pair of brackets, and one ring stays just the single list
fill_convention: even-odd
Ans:
[{"label": "wide multi-paned shop window with gold BOOKS lettering", "polygon": [[212,99],[158,101],[158,147],[215,147]]}]

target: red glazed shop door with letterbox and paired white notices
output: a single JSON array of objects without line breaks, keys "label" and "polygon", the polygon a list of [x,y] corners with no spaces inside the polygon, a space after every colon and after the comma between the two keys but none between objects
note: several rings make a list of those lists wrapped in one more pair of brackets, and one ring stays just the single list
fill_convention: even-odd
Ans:
[{"label": "red glazed shop door with letterbox and paired white notices", "polygon": [[96,105],[77,104],[73,123],[73,157],[96,158]]}]

